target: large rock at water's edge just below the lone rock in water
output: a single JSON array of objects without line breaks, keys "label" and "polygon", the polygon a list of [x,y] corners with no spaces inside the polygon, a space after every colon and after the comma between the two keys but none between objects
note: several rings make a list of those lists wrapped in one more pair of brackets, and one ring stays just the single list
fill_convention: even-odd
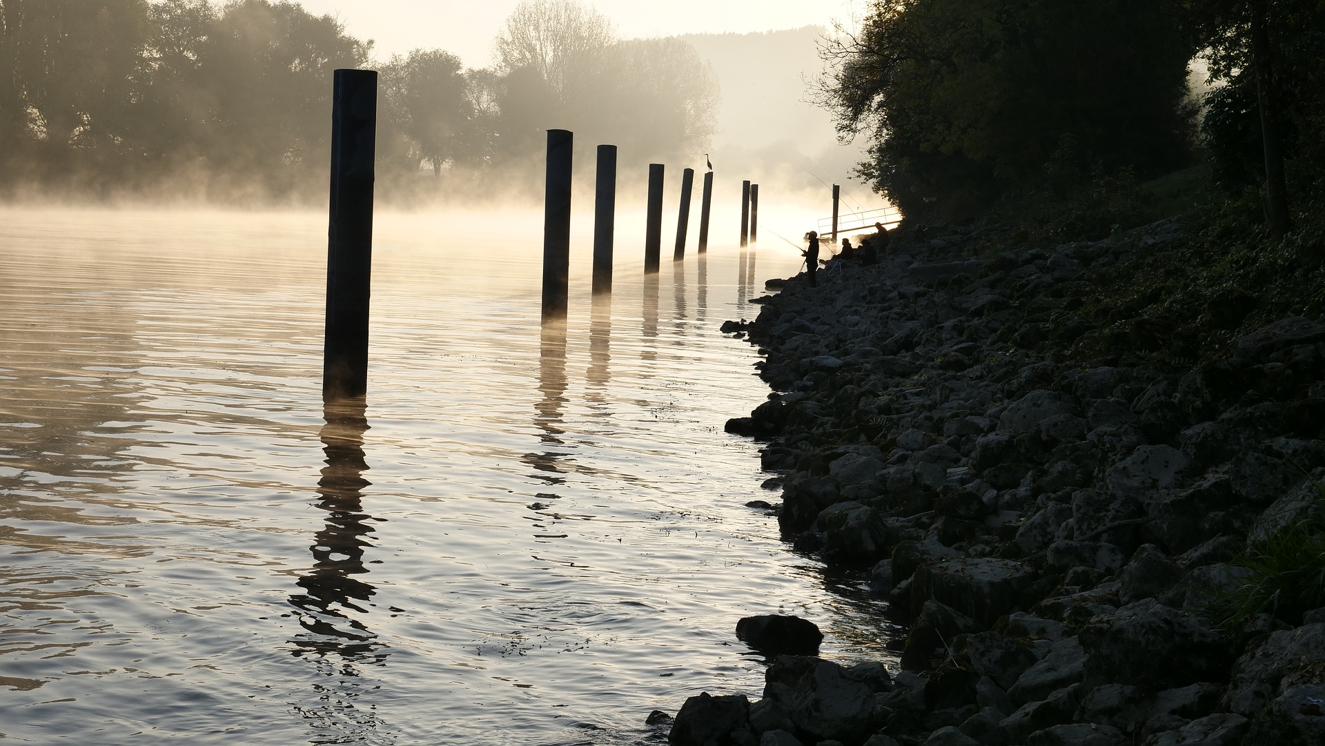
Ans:
[{"label": "large rock at water's edge just below the lone rock in water", "polygon": [[832,661],[778,656],[765,674],[765,698],[774,700],[803,741],[860,743],[869,735],[880,692]]}]

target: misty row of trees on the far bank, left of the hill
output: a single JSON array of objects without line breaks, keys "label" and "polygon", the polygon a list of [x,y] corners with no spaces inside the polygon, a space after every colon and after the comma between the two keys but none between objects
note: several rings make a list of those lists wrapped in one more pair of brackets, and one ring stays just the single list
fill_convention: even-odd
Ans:
[{"label": "misty row of trees on the far bank, left of the hill", "polygon": [[549,127],[640,163],[702,151],[713,131],[717,82],[678,40],[616,40],[594,11],[538,0],[494,49],[489,69],[437,49],[375,61],[371,42],[288,1],[0,0],[0,186],[318,195],[338,68],[380,72],[392,196],[538,183]]}]

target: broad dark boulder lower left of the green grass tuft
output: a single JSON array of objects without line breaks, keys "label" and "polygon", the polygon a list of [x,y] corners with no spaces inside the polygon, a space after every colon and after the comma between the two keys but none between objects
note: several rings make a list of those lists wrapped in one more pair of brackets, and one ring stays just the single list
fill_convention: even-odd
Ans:
[{"label": "broad dark boulder lower left of the green grass tuft", "polygon": [[1154,599],[1088,624],[1080,637],[1089,653],[1086,681],[1094,684],[1182,686],[1218,680],[1232,660],[1232,643],[1208,621]]}]

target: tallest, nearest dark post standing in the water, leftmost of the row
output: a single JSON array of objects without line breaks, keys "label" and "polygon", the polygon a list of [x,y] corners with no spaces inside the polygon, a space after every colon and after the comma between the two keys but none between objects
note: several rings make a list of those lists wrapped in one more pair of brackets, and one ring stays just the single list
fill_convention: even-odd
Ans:
[{"label": "tallest, nearest dark post standing in the water, leftmost of the row", "polygon": [[331,219],[322,398],[368,391],[368,295],[378,73],[337,70],[331,89]]}]

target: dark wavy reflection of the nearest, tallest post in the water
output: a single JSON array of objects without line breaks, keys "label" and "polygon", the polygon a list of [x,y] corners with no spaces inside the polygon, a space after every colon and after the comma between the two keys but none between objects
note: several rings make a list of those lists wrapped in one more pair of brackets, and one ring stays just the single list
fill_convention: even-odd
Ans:
[{"label": "dark wavy reflection of the nearest, tallest post in the water", "polygon": [[363,510],[363,478],[368,464],[363,456],[363,433],[368,429],[364,399],[329,401],[326,424],[319,437],[326,466],[318,480],[317,506],[326,511],[326,523],[310,547],[313,568],[297,584],[303,594],[290,596],[299,610],[299,625],[307,632],[294,640],[294,655],[337,655],[346,660],[380,663],[386,659],[374,635],[360,619],[368,613],[368,599],[376,592],[359,578],[375,521]]}]

